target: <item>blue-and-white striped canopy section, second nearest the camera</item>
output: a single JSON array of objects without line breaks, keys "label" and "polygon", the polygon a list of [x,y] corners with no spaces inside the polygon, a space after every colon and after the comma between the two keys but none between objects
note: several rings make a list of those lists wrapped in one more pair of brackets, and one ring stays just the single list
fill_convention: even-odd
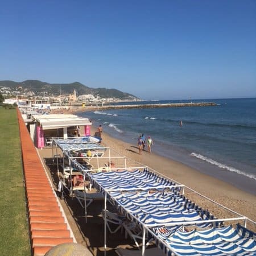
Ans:
[{"label": "blue-and-white striped canopy section, second nearest the camera", "polygon": [[[125,209],[127,213],[133,214],[147,225],[159,226],[167,223],[175,225],[175,222],[214,220],[212,214],[205,214],[207,210],[188,203],[190,201],[177,191],[110,192],[110,195],[114,197],[117,207]],[[196,225],[205,227],[218,226],[218,224],[220,223],[216,221]]]}]

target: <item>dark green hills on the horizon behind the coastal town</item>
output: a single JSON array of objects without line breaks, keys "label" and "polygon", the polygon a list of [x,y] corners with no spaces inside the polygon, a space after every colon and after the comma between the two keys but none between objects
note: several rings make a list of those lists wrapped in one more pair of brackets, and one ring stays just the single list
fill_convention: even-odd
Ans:
[{"label": "dark green hills on the horizon behind the coastal town", "polygon": [[35,94],[46,93],[57,96],[60,94],[71,94],[74,89],[78,95],[82,94],[93,94],[94,96],[100,96],[102,98],[119,98],[121,100],[136,100],[138,97],[121,92],[117,89],[106,89],[106,88],[89,88],[81,84],[80,82],[72,82],[71,84],[49,84],[48,82],[42,82],[38,80],[26,80],[23,82],[14,81],[0,81],[0,86],[9,87],[11,89],[26,89],[32,91]]}]

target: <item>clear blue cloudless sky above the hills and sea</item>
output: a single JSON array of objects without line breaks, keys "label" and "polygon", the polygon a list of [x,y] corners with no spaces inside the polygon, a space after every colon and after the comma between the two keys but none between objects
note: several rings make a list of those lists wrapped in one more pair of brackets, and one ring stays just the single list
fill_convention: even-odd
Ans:
[{"label": "clear blue cloudless sky above the hills and sea", "polygon": [[0,80],[256,97],[255,0],[2,0],[0,33]]}]

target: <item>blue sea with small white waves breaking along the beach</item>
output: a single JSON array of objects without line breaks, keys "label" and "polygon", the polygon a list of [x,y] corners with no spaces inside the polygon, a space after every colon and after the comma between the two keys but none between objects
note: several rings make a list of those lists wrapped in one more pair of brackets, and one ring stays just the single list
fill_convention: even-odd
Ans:
[{"label": "blue sea with small white waves breaking along the beach", "polygon": [[[118,105],[186,102],[191,100]],[[104,133],[125,142],[137,144],[139,135],[150,136],[152,152],[256,195],[256,98],[192,102],[217,105],[96,110],[78,115],[92,119],[94,126],[102,125]]]}]

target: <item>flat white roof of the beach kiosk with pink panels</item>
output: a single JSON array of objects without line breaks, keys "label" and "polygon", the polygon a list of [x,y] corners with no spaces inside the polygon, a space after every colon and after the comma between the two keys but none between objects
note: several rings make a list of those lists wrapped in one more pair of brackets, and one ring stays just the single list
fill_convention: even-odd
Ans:
[{"label": "flat white roof of the beach kiosk with pink panels", "polygon": [[40,125],[42,125],[43,130],[92,125],[88,118],[82,118],[72,114],[32,115],[32,119],[39,122]]}]

